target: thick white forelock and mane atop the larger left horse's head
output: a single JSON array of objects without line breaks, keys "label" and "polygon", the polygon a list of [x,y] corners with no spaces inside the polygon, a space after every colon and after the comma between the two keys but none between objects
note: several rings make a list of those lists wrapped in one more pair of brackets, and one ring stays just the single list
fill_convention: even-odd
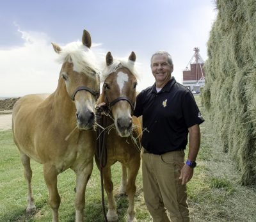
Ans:
[{"label": "thick white forelock and mane atop the larger left horse's head", "polygon": [[76,72],[83,72],[86,75],[100,75],[99,62],[95,58],[95,54],[82,42],[67,44],[58,56],[58,63],[72,62]]}]

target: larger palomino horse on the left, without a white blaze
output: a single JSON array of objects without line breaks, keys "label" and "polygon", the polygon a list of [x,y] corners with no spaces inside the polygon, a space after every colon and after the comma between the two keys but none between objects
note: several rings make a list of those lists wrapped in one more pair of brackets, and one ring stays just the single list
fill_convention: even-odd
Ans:
[{"label": "larger palomino horse on the left, without a white blaze", "polygon": [[52,43],[63,63],[58,87],[51,95],[26,95],[13,107],[13,138],[19,148],[28,182],[27,212],[35,210],[31,189],[30,159],[44,164],[52,221],[58,221],[60,195],[57,175],[68,168],[76,173],[76,221],[83,221],[84,192],[95,154],[95,102],[99,95],[99,68],[95,65],[91,37],[83,32],[83,44],[61,49]]}]

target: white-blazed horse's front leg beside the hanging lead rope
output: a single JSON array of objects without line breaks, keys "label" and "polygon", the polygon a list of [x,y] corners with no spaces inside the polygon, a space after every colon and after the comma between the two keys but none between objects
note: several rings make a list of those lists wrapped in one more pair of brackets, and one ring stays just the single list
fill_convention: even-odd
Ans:
[{"label": "white-blazed horse's front leg beside the hanging lead rope", "polygon": [[108,221],[118,221],[116,213],[116,202],[113,194],[113,182],[111,180],[110,166],[103,168],[104,189],[108,195]]}]

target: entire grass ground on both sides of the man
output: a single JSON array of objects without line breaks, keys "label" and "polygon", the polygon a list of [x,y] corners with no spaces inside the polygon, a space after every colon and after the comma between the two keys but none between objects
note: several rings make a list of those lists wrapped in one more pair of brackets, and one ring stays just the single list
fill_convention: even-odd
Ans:
[{"label": "entire grass ground on both sides of the man", "polygon": [[[202,142],[198,154],[195,174],[188,183],[188,202],[191,221],[243,221],[256,222],[256,187],[239,186],[236,166],[228,154],[221,151],[218,139],[212,132],[212,123],[200,106],[200,98],[195,97],[205,122],[201,125]],[[26,214],[27,186],[19,152],[12,140],[12,131],[0,131],[0,221],[51,221],[52,212],[47,204],[42,165],[31,161],[33,169],[33,193],[37,210]],[[120,164],[113,168],[115,193],[120,181]],[[75,175],[72,170],[61,173],[58,188],[61,196],[60,221],[74,221]],[[152,221],[143,201],[141,171],[138,174],[135,199],[138,221]],[[126,221],[127,198],[116,196],[119,221]],[[97,167],[86,187],[86,207],[84,219],[89,222],[102,222],[100,197],[100,176]]]}]

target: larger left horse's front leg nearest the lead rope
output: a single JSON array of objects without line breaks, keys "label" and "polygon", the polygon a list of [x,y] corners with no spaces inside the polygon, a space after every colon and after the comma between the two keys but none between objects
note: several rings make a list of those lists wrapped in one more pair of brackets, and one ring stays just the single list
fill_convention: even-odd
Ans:
[{"label": "larger left horse's front leg nearest the lead rope", "polygon": [[88,180],[92,174],[93,168],[93,160],[86,165],[86,168],[76,171],[76,200],[75,200],[75,207],[76,207],[76,222],[83,221],[83,212],[84,212],[84,205],[85,205],[85,189],[88,183]]}]

